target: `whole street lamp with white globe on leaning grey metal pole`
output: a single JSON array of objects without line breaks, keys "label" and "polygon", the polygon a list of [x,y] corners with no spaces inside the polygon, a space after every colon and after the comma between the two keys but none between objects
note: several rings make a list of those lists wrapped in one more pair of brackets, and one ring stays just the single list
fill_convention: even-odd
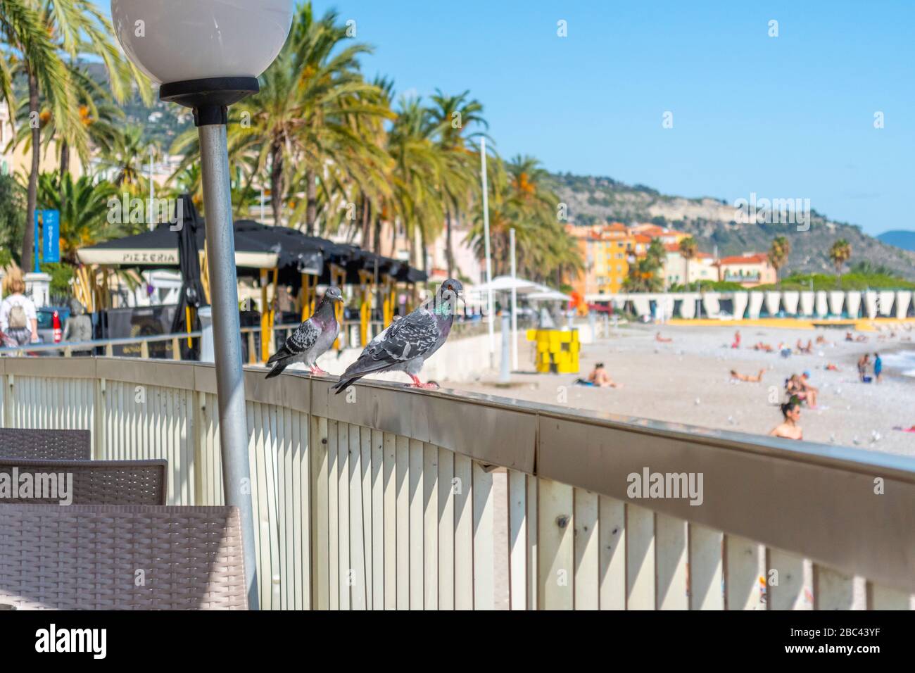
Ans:
[{"label": "whole street lamp with white globe on leaning grey metal pole", "polygon": [[160,84],[159,98],[192,108],[200,141],[207,219],[207,258],[222,484],[227,505],[242,516],[248,602],[257,607],[254,523],[245,426],[242,337],[231,219],[228,106],[258,92],[257,78],[283,49],[293,0],[112,0],[124,53]]}]

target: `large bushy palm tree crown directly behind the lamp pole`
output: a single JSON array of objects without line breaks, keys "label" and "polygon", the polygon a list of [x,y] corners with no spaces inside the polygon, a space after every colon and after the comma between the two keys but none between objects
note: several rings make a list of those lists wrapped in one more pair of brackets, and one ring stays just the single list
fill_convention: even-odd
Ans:
[{"label": "large bushy palm tree crown directly behind the lamp pole", "polygon": [[[249,182],[267,176],[277,224],[295,188],[304,191],[293,214],[304,210],[307,233],[315,233],[318,219],[318,181],[325,203],[347,180],[373,193],[382,189],[377,176],[386,157],[354,119],[391,114],[359,71],[357,58],[371,49],[346,46],[346,33],[337,13],[316,20],[311,3],[301,5],[284,48],[261,77],[261,91],[232,107],[231,159],[250,160]],[[178,172],[196,160],[196,136],[189,129],[173,144],[173,152],[185,153]]]}]

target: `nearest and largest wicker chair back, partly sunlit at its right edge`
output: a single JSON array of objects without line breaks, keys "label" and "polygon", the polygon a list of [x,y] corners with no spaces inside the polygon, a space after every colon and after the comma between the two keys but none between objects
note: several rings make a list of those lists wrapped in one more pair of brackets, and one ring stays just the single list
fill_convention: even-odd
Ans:
[{"label": "nearest and largest wicker chair back, partly sunlit at its right edge", "polygon": [[5,609],[245,610],[246,592],[237,507],[0,505]]}]

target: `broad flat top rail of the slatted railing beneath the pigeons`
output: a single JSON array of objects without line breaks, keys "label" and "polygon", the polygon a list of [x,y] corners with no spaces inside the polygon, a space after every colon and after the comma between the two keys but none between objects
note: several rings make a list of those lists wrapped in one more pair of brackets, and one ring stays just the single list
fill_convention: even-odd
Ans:
[{"label": "broad flat top rail of the slatted railing beneath the pigeons", "polygon": [[[4,358],[0,373],[216,392],[213,366],[201,363]],[[350,399],[331,390],[334,377],[267,380],[251,366],[244,375],[251,402],[410,437],[915,591],[910,457],[377,380],[359,382]],[[704,474],[705,506],[630,500],[627,475],[645,468]]]}]

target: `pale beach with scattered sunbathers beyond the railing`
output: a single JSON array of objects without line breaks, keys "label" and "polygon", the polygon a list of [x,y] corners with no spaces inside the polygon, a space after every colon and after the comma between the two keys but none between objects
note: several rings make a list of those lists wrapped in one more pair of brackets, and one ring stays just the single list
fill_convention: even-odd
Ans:
[{"label": "pale beach with scattered sunbathers beyond the railing", "polygon": [[[473,390],[490,395],[516,397],[557,404],[565,386],[571,407],[596,409],[621,415],[654,418],[706,428],[733,429],[767,434],[781,420],[778,403],[783,399],[785,379],[808,370],[812,385],[820,389],[818,408],[803,407],[801,427],[804,440],[834,443],[859,449],[915,455],[915,433],[897,427],[915,425],[915,338],[912,331],[856,332],[867,342],[845,342],[845,331],[785,330],[743,327],[741,346],[730,347],[735,326],[675,327],[630,325],[620,327],[609,339],[582,347],[580,374],[534,374],[533,349],[522,342],[521,370],[511,376],[511,385],[496,384],[495,376],[478,382],[443,386]],[[672,342],[657,342],[656,332]],[[818,335],[826,343],[815,343]],[[754,351],[753,344],[793,347],[798,339],[813,339],[812,354]],[[884,361],[880,384],[860,383],[856,363],[862,353],[880,353]],[[621,388],[574,385],[587,377],[597,362],[603,362]],[[835,364],[839,371],[827,371]],[[740,374],[757,374],[760,383],[733,380],[731,369]],[[908,372],[908,374],[905,374]],[[871,372],[872,373],[872,372]],[[777,400],[773,402],[773,400]]]}]

